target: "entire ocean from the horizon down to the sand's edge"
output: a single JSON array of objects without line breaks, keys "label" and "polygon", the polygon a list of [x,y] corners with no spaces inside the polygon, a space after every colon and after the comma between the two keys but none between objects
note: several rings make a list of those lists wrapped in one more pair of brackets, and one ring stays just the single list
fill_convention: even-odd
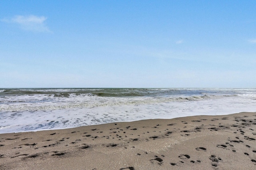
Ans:
[{"label": "entire ocean from the horizon down to the sand's edge", "polygon": [[0,88],[0,134],[256,112],[256,88]]}]

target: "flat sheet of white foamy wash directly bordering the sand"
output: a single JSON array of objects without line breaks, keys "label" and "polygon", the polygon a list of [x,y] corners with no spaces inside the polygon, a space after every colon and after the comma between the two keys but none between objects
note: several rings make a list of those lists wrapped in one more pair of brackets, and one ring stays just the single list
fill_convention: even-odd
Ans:
[{"label": "flat sheet of white foamy wash directly bordering the sand", "polygon": [[[63,129],[109,122],[177,118],[196,115],[224,115],[255,112],[256,100],[223,98],[157,104],[99,105],[93,108],[67,108],[53,111],[3,112],[0,133]],[[26,121],[24,121],[26,120]],[[15,124],[14,124],[15,122]]]}]

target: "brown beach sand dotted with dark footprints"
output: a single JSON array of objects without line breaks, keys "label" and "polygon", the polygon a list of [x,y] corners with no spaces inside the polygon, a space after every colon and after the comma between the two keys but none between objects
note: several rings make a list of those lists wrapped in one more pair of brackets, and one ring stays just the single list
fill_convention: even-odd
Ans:
[{"label": "brown beach sand dotted with dark footprints", "polygon": [[256,112],[0,134],[0,170],[256,169]]}]

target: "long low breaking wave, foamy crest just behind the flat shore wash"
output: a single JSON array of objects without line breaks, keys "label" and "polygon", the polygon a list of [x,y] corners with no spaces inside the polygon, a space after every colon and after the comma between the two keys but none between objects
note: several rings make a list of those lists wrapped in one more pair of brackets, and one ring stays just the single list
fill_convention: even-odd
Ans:
[{"label": "long low breaking wave, foamy crest just behind the flat shore wash", "polygon": [[1,104],[0,111],[38,111],[38,110],[62,110],[72,108],[95,108],[107,106],[129,106],[129,105],[144,105],[144,104],[161,104],[168,102],[195,102],[202,100],[220,99],[225,97],[236,97],[236,95],[203,95],[190,97],[137,97],[137,98],[102,98],[96,96],[94,100],[85,100],[76,98],[76,100],[66,100],[57,102],[16,102],[9,104]]}]

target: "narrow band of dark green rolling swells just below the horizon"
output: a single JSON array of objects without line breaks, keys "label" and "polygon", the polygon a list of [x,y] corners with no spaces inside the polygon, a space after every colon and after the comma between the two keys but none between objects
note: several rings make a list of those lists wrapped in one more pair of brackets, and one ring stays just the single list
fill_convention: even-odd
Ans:
[{"label": "narrow band of dark green rolling swells just below the horizon", "polygon": [[[21,96],[34,94],[92,94],[102,97],[134,97],[134,96],[197,96],[218,94],[247,94],[256,89],[219,89],[219,88],[7,88],[0,89],[0,96]],[[58,96],[58,95],[57,95]],[[61,95],[60,95],[61,96]]]}]

